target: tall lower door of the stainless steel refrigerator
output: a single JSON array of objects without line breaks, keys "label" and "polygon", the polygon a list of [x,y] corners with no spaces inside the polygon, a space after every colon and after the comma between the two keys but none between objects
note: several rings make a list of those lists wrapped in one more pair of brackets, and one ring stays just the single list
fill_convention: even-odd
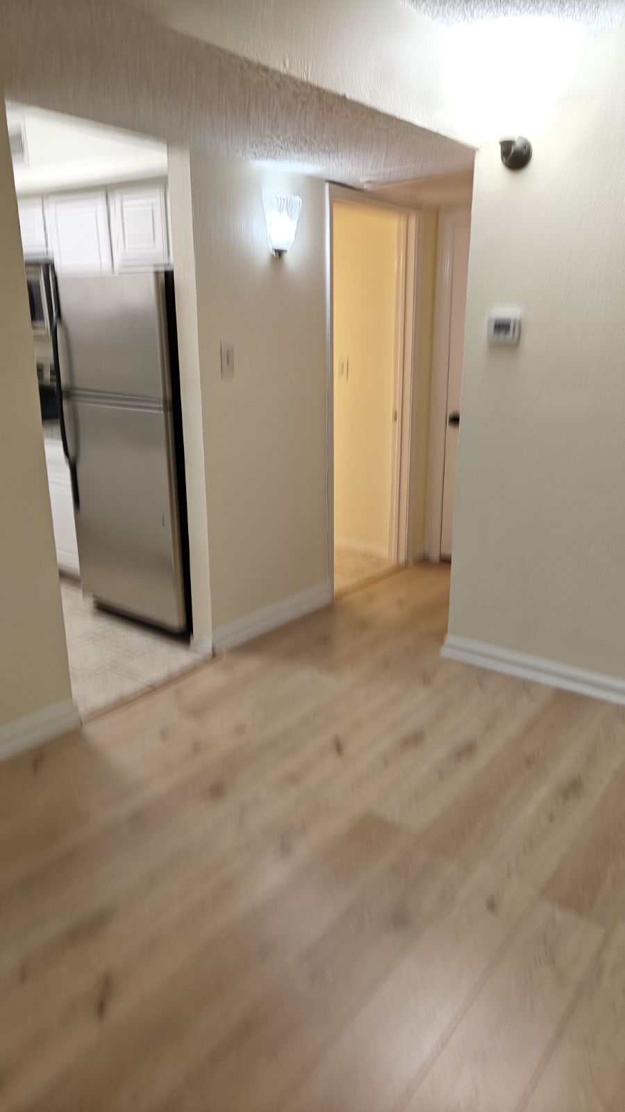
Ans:
[{"label": "tall lower door of the stainless steel refrigerator", "polygon": [[171,413],[76,398],[71,408],[83,590],[113,609],[183,631]]}]

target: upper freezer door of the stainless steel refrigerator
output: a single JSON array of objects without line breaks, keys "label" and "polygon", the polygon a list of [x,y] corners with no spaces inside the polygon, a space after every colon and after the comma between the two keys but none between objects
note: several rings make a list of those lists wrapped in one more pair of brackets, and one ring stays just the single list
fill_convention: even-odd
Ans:
[{"label": "upper freezer door of the stainless steel refrigerator", "polygon": [[63,389],[169,398],[163,275],[58,275]]}]

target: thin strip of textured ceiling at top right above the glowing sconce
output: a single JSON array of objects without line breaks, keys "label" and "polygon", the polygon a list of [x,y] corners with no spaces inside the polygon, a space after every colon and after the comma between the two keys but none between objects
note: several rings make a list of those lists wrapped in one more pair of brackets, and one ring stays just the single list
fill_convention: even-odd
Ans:
[{"label": "thin strip of textured ceiling at top right above the glowing sconce", "polygon": [[509,16],[552,16],[588,27],[625,23],[625,0],[404,0],[439,23],[469,23]]}]

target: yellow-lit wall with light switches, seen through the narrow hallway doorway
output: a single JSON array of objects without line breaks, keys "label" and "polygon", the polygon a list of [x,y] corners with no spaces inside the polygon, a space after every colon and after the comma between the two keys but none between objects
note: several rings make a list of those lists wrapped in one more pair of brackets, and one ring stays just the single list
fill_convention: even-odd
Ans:
[{"label": "yellow-lit wall with light switches, seen through the narrow hallway doorway", "polygon": [[383,556],[390,519],[403,222],[383,208],[333,206],[335,544]]}]

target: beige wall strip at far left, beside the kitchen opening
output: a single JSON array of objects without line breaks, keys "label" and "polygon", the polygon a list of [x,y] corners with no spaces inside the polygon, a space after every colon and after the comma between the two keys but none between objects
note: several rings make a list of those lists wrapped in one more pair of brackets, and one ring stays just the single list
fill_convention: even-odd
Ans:
[{"label": "beige wall strip at far left, beside the kitchen opening", "polygon": [[0,112],[0,728],[71,698],[34,353]]}]

